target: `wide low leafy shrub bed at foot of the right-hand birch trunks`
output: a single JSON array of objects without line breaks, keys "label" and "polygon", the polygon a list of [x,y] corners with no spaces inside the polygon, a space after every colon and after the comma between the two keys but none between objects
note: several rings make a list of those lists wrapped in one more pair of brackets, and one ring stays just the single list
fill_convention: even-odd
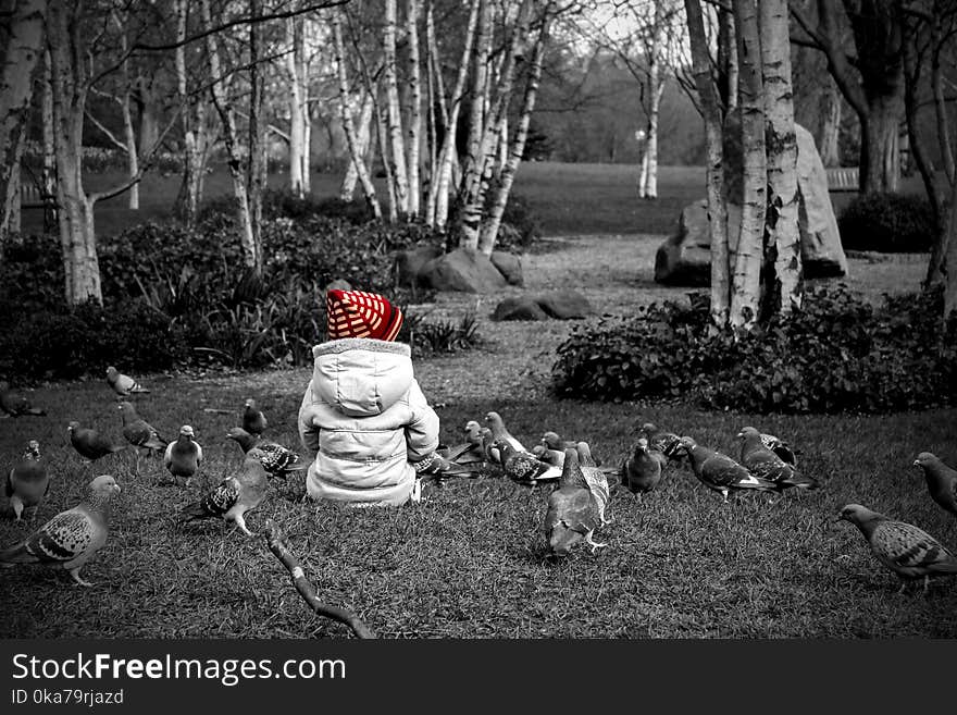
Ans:
[{"label": "wide low leafy shrub bed at foot of the right-hand birch trunks", "polygon": [[639,309],[576,329],[559,347],[556,391],[587,399],[688,399],[753,412],[886,412],[957,404],[957,325],[940,337],[941,294],[886,298],[842,287],[735,336],[708,301]]}]

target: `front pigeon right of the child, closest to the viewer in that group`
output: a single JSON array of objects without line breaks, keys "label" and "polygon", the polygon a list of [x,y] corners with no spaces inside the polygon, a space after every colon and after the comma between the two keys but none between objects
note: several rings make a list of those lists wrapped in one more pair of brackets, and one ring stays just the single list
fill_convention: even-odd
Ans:
[{"label": "front pigeon right of the child, closest to the viewer in that group", "polygon": [[580,541],[596,550],[608,544],[595,543],[592,535],[599,527],[598,504],[588,489],[588,482],[579,465],[575,449],[564,451],[564,467],[558,489],[548,495],[548,509],[545,513],[543,531],[548,541],[548,550],[555,556],[563,556]]}]

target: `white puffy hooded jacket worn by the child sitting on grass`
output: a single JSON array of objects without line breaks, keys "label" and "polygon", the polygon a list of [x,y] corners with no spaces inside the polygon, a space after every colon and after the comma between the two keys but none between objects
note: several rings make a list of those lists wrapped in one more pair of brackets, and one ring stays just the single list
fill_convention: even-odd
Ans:
[{"label": "white puffy hooded jacket worn by the child sitting on grass", "polygon": [[412,464],[438,446],[438,416],[412,373],[409,346],[368,337],[312,348],[312,380],[299,408],[312,498],[405,504]]}]

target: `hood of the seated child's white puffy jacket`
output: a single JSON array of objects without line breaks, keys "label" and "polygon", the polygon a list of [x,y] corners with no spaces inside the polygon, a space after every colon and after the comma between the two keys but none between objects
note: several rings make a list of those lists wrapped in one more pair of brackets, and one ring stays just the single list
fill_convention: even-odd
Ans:
[{"label": "hood of the seated child's white puffy jacket", "polygon": [[315,396],[350,417],[380,415],[412,385],[408,345],[370,337],[328,341],[312,348]]}]

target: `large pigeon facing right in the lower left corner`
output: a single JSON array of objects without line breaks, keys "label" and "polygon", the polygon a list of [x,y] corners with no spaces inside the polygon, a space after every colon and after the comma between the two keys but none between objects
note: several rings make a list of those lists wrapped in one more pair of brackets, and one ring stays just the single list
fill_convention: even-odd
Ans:
[{"label": "large pigeon facing right in the lower left corner", "polygon": [[102,474],[89,483],[89,489],[85,502],[61,511],[25,541],[0,552],[0,565],[60,565],[80,585],[92,585],[80,578],[79,569],[107,543],[110,500],[120,493],[120,484]]}]

